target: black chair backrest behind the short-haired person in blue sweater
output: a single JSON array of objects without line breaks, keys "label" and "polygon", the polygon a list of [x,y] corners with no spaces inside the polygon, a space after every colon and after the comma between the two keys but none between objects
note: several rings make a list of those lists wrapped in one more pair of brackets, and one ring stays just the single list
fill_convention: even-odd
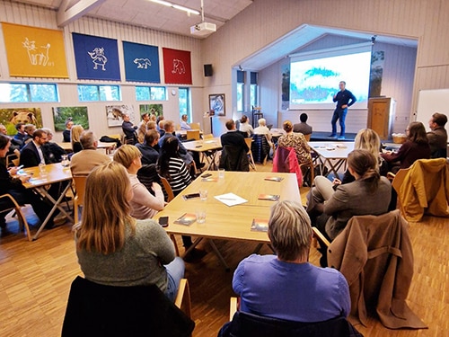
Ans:
[{"label": "black chair backrest behind the short-haired person in blue sweater", "polygon": [[[303,323],[237,311],[233,320],[218,334],[219,337],[348,337],[355,330],[345,317],[339,316],[324,322]],[[360,334],[358,334],[361,336]]]}]

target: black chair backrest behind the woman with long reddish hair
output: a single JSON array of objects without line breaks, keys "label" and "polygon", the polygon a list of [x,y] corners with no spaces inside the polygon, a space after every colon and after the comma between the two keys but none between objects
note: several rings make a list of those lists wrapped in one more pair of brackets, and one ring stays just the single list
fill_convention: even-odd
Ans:
[{"label": "black chair backrest behind the woman with long reddish hair", "polygon": [[155,285],[112,287],[78,276],[61,336],[189,336],[194,327]]}]

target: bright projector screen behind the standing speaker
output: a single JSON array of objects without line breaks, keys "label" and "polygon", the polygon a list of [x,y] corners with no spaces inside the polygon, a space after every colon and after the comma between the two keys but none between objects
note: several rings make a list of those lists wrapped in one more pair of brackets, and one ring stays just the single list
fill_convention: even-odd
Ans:
[{"label": "bright projector screen behind the standing speaker", "polygon": [[366,109],[370,69],[371,44],[292,55],[289,109],[335,109],[332,98],[339,81],[357,98],[352,108]]}]

